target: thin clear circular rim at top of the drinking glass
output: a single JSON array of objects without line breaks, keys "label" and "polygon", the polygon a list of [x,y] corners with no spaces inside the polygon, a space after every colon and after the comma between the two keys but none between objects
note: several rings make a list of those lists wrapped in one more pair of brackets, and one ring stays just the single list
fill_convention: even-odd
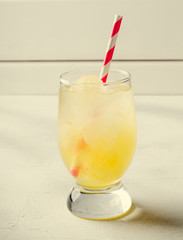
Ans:
[{"label": "thin clear circular rim at top of the drinking glass", "polygon": [[75,81],[72,81],[72,80],[69,80],[69,79],[66,79],[65,76],[69,75],[69,74],[73,74],[73,73],[79,73],[79,72],[85,72],[85,75],[86,75],[86,72],[87,71],[100,71],[101,69],[100,68],[81,68],[81,69],[77,69],[77,70],[71,70],[71,71],[67,71],[67,72],[64,72],[60,75],[60,84],[64,84],[64,85],[74,85],[74,86],[82,86],[82,85],[88,85],[88,86],[93,86],[93,85],[118,85],[118,84],[124,84],[124,83],[127,83],[127,82],[130,82],[130,79],[131,79],[131,75],[129,72],[127,71],[124,71],[124,70],[118,70],[118,69],[110,69],[109,70],[109,73],[110,72],[116,72],[116,73],[119,73],[121,75],[124,75],[124,77],[122,77],[122,79],[120,80],[115,80],[115,81],[106,81],[105,83],[103,83],[101,81],[101,83],[77,83]]}]

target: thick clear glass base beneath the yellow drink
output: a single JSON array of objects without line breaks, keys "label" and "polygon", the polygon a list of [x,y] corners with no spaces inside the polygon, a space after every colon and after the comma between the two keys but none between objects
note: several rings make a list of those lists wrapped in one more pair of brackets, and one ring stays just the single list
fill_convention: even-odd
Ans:
[{"label": "thick clear glass base beneath the yellow drink", "polygon": [[131,197],[121,182],[100,191],[90,191],[76,185],[67,199],[67,207],[74,215],[92,220],[121,217],[131,206]]}]

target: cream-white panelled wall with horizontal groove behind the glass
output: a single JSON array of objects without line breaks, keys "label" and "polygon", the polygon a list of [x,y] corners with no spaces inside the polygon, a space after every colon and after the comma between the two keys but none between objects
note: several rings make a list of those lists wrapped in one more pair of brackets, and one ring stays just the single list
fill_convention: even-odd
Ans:
[{"label": "cream-white panelled wall with horizontal groove behind the glass", "polygon": [[60,73],[100,66],[123,15],[113,68],[136,94],[183,94],[182,0],[0,1],[0,94],[56,94]]}]

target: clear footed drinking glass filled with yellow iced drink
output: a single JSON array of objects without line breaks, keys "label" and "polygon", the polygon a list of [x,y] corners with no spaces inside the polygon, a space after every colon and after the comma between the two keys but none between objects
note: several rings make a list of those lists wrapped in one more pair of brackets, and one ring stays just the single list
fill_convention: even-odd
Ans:
[{"label": "clear footed drinking glass filled with yellow iced drink", "polygon": [[[106,220],[130,210],[121,177],[136,148],[136,120],[130,74],[100,69],[63,73],[60,78],[58,146],[75,179],[68,209],[76,216]],[[78,80],[79,79],[79,80]]]}]

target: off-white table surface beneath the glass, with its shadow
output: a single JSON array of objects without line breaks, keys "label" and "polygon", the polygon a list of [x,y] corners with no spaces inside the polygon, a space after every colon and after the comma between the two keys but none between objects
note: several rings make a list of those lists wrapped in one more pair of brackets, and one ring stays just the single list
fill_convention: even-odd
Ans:
[{"label": "off-white table surface beneath the glass, with its shadow", "polygon": [[183,96],[136,96],[138,144],[114,221],[73,216],[57,148],[56,96],[0,96],[0,240],[183,239]]}]

